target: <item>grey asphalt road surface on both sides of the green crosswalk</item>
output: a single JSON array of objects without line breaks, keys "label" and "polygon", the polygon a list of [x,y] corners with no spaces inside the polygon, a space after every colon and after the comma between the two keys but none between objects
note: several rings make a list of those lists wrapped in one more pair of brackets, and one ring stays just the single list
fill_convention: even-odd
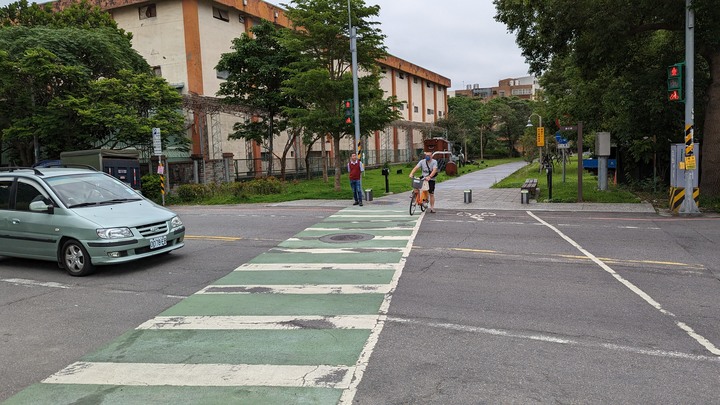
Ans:
[{"label": "grey asphalt road surface on both sides of the green crosswalk", "polygon": [[[0,259],[0,401],[337,207],[182,207],[186,246],[72,278]],[[355,402],[717,403],[720,219],[426,215]]]}]

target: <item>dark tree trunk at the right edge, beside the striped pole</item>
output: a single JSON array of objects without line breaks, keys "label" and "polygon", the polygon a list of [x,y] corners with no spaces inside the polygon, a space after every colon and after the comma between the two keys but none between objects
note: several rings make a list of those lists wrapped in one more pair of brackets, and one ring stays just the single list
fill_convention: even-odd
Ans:
[{"label": "dark tree trunk at the right edge, beside the striped pole", "polygon": [[705,133],[702,134],[700,155],[700,194],[708,197],[720,196],[720,51],[713,53],[710,60],[712,83],[707,91],[708,102],[705,110]]}]

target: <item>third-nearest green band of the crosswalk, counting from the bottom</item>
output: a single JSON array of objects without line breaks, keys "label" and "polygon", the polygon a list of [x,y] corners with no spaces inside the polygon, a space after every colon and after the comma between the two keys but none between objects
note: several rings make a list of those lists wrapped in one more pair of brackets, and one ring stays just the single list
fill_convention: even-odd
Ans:
[{"label": "third-nearest green band of the crosswalk, counting from the bottom", "polygon": [[372,315],[384,298],[384,294],[198,294],[160,315]]}]

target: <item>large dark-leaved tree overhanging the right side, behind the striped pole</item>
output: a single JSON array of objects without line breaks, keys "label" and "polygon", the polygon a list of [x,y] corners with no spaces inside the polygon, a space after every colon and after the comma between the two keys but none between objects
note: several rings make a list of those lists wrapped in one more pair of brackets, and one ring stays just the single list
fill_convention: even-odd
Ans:
[{"label": "large dark-leaved tree overhanging the right side, behind the striped pole", "polygon": [[[494,0],[531,70],[544,74],[557,118],[609,130],[622,146],[658,136],[683,142],[682,106],[666,101],[666,67],[684,60],[685,1]],[[701,189],[720,195],[720,8],[694,0],[696,139]],[[632,152],[642,161],[642,152]]]}]

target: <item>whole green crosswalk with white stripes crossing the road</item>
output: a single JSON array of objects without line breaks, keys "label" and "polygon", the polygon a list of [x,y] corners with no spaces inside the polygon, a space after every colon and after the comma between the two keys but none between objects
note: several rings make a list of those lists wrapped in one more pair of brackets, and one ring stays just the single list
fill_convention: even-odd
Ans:
[{"label": "whole green crosswalk with white stripes crossing the road", "polygon": [[351,403],[421,218],[340,210],[5,403]]}]

